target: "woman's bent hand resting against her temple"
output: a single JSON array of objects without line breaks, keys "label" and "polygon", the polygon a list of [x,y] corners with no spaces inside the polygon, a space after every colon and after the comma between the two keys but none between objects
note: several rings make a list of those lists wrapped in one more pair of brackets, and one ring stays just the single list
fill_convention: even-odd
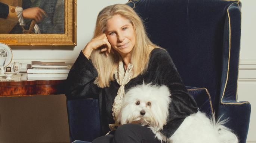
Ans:
[{"label": "woman's bent hand resting against her temple", "polygon": [[102,35],[90,40],[90,42],[87,43],[87,45],[83,49],[83,53],[85,55],[90,56],[92,51],[98,48],[102,48],[101,52],[105,51],[106,56],[108,56],[108,53],[110,53],[111,45],[110,42],[108,42],[107,35],[103,33]]}]

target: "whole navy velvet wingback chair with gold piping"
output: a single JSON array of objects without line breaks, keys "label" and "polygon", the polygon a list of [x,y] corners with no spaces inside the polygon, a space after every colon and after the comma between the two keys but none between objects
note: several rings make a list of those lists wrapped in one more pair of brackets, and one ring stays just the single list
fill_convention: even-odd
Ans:
[{"label": "whole navy velvet wingback chair with gold piping", "polygon": [[[241,2],[236,0],[132,0],[149,38],[167,49],[188,91],[209,116],[246,142],[250,103],[237,101]],[[68,99],[70,140],[101,136],[97,99]],[[77,141],[78,142],[78,141]],[[84,142],[84,143],[87,143]]]}]

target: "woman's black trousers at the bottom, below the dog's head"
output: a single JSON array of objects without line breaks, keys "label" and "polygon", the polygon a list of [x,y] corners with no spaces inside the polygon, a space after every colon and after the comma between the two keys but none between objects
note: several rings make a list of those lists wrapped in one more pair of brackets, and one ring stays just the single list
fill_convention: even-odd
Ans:
[{"label": "woman's black trousers at the bottom, below the dog's head", "polygon": [[155,134],[140,124],[123,124],[116,131],[111,131],[106,136],[101,136],[92,143],[161,143]]}]

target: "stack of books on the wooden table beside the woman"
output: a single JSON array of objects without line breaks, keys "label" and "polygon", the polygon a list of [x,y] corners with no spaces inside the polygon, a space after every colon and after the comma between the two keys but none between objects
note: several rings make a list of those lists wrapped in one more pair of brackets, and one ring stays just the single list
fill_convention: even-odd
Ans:
[{"label": "stack of books on the wooden table beside the woman", "polygon": [[70,67],[65,62],[32,61],[27,65],[28,79],[40,77],[67,78]]}]

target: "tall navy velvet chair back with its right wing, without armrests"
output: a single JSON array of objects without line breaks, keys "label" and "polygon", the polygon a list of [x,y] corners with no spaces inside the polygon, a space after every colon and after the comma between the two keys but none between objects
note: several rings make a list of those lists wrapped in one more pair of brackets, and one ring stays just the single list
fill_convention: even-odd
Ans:
[{"label": "tall navy velvet chair back with its right wing, without armrests", "polygon": [[[132,0],[127,4],[144,20],[149,39],[170,53],[186,86],[207,88],[215,110],[225,91],[228,98],[236,98],[239,1]],[[231,7],[233,19],[228,15]],[[232,35],[230,21],[235,28]]]}]

